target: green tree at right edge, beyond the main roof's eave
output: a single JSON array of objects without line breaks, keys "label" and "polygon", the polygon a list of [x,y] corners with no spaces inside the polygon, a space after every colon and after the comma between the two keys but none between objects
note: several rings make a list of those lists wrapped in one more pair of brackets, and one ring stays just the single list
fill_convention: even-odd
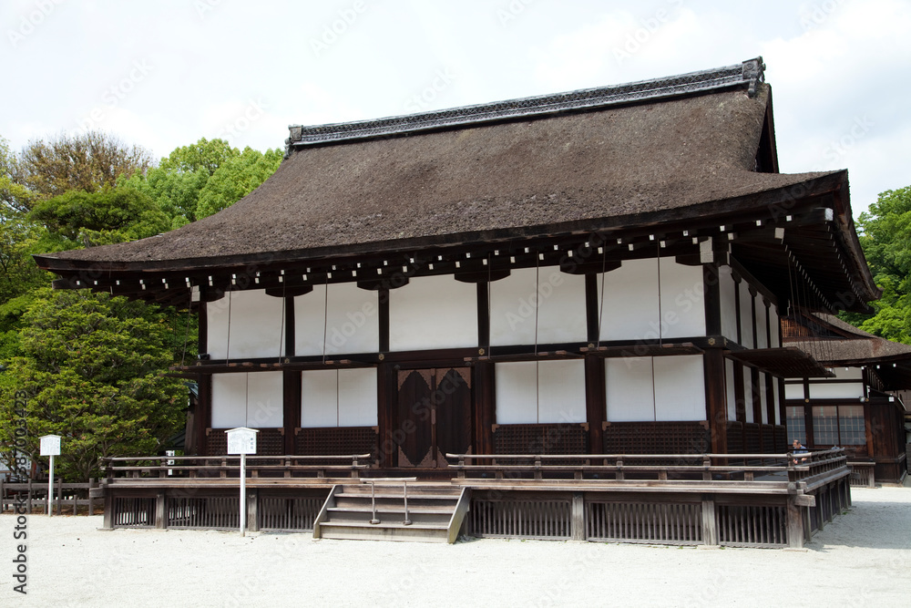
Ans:
[{"label": "green tree at right edge, beyond the main roof's eave", "polygon": [[842,317],[871,334],[911,344],[911,186],[885,191],[860,214],[860,243],[883,297],[875,314]]}]

